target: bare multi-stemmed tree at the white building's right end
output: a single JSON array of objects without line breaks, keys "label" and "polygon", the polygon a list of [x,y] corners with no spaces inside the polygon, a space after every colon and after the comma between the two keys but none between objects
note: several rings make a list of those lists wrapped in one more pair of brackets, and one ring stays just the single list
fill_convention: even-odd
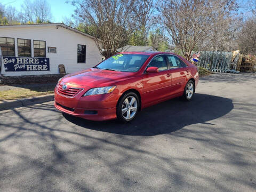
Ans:
[{"label": "bare multi-stemmed tree at the white building's right end", "polygon": [[[90,26],[91,35],[106,58],[127,44],[137,27],[135,0],[75,0],[75,17]],[[101,41],[99,41],[99,38]],[[102,49],[103,48],[103,49]]]}]

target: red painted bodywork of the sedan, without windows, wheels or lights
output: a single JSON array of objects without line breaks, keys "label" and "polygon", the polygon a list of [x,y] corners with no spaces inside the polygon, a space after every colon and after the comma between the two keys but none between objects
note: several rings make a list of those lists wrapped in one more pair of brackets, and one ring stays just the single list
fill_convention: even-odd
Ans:
[{"label": "red painted bodywork of the sedan, without windows, wheels or lights", "polygon": [[[60,94],[58,89],[55,89],[55,107],[70,115],[93,121],[103,121],[116,118],[117,102],[125,91],[138,91],[141,98],[141,109],[143,109],[158,102],[181,96],[189,79],[194,79],[195,86],[198,84],[196,66],[177,54],[165,52],[123,52],[123,54],[127,53],[147,54],[150,56],[140,70],[135,73],[91,68],[63,77],[59,82],[61,87],[63,84],[67,85],[67,89],[63,91],[68,91],[70,87],[82,89],[82,91],[79,90],[74,94],[74,97],[68,97],[67,95]],[[158,72],[154,72],[156,67],[150,67],[151,69],[148,68],[148,70],[152,73],[147,73],[145,70],[148,63],[158,54],[176,55],[186,63],[187,67]],[[111,93],[83,97],[89,89],[105,86],[116,86],[116,89]],[[67,110],[61,106],[72,108],[74,111]],[[84,110],[97,110],[98,114],[84,114]]]}]

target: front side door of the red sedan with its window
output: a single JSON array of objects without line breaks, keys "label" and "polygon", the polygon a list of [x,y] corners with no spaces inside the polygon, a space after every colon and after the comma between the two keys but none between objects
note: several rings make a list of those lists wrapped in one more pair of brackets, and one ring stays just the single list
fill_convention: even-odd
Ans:
[{"label": "front side door of the red sedan with its window", "polygon": [[143,76],[143,101],[153,103],[167,97],[171,89],[171,75],[167,66],[165,55],[156,55],[148,67],[157,67],[157,73],[144,73]]}]

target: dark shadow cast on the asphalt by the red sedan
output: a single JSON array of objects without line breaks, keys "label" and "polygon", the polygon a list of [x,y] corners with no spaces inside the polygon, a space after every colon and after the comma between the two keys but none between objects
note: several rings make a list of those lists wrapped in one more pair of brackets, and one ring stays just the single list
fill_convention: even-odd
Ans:
[{"label": "dark shadow cast on the asphalt by the red sedan", "polygon": [[68,114],[63,116],[71,123],[86,129],[121,135],[152,136],[171,133],[191,124],[207,123],[229,113],[234,108],[231,99],[198,94],[189,101],[179,98],[143,109],[131,123],[118,121],[92,122]]}]

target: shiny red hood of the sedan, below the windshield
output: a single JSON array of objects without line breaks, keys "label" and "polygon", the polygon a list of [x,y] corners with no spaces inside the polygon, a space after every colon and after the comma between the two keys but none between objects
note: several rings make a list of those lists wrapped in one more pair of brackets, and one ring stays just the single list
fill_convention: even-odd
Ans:
[{"label": "shiny red hood of the sedan, below the windshield", "polygon": [[114,85],[115,82],[131,76],[133,76],[133,73],[91,68],[66,75],[61,79],[61,82],[89,87],[103,87]]}]

